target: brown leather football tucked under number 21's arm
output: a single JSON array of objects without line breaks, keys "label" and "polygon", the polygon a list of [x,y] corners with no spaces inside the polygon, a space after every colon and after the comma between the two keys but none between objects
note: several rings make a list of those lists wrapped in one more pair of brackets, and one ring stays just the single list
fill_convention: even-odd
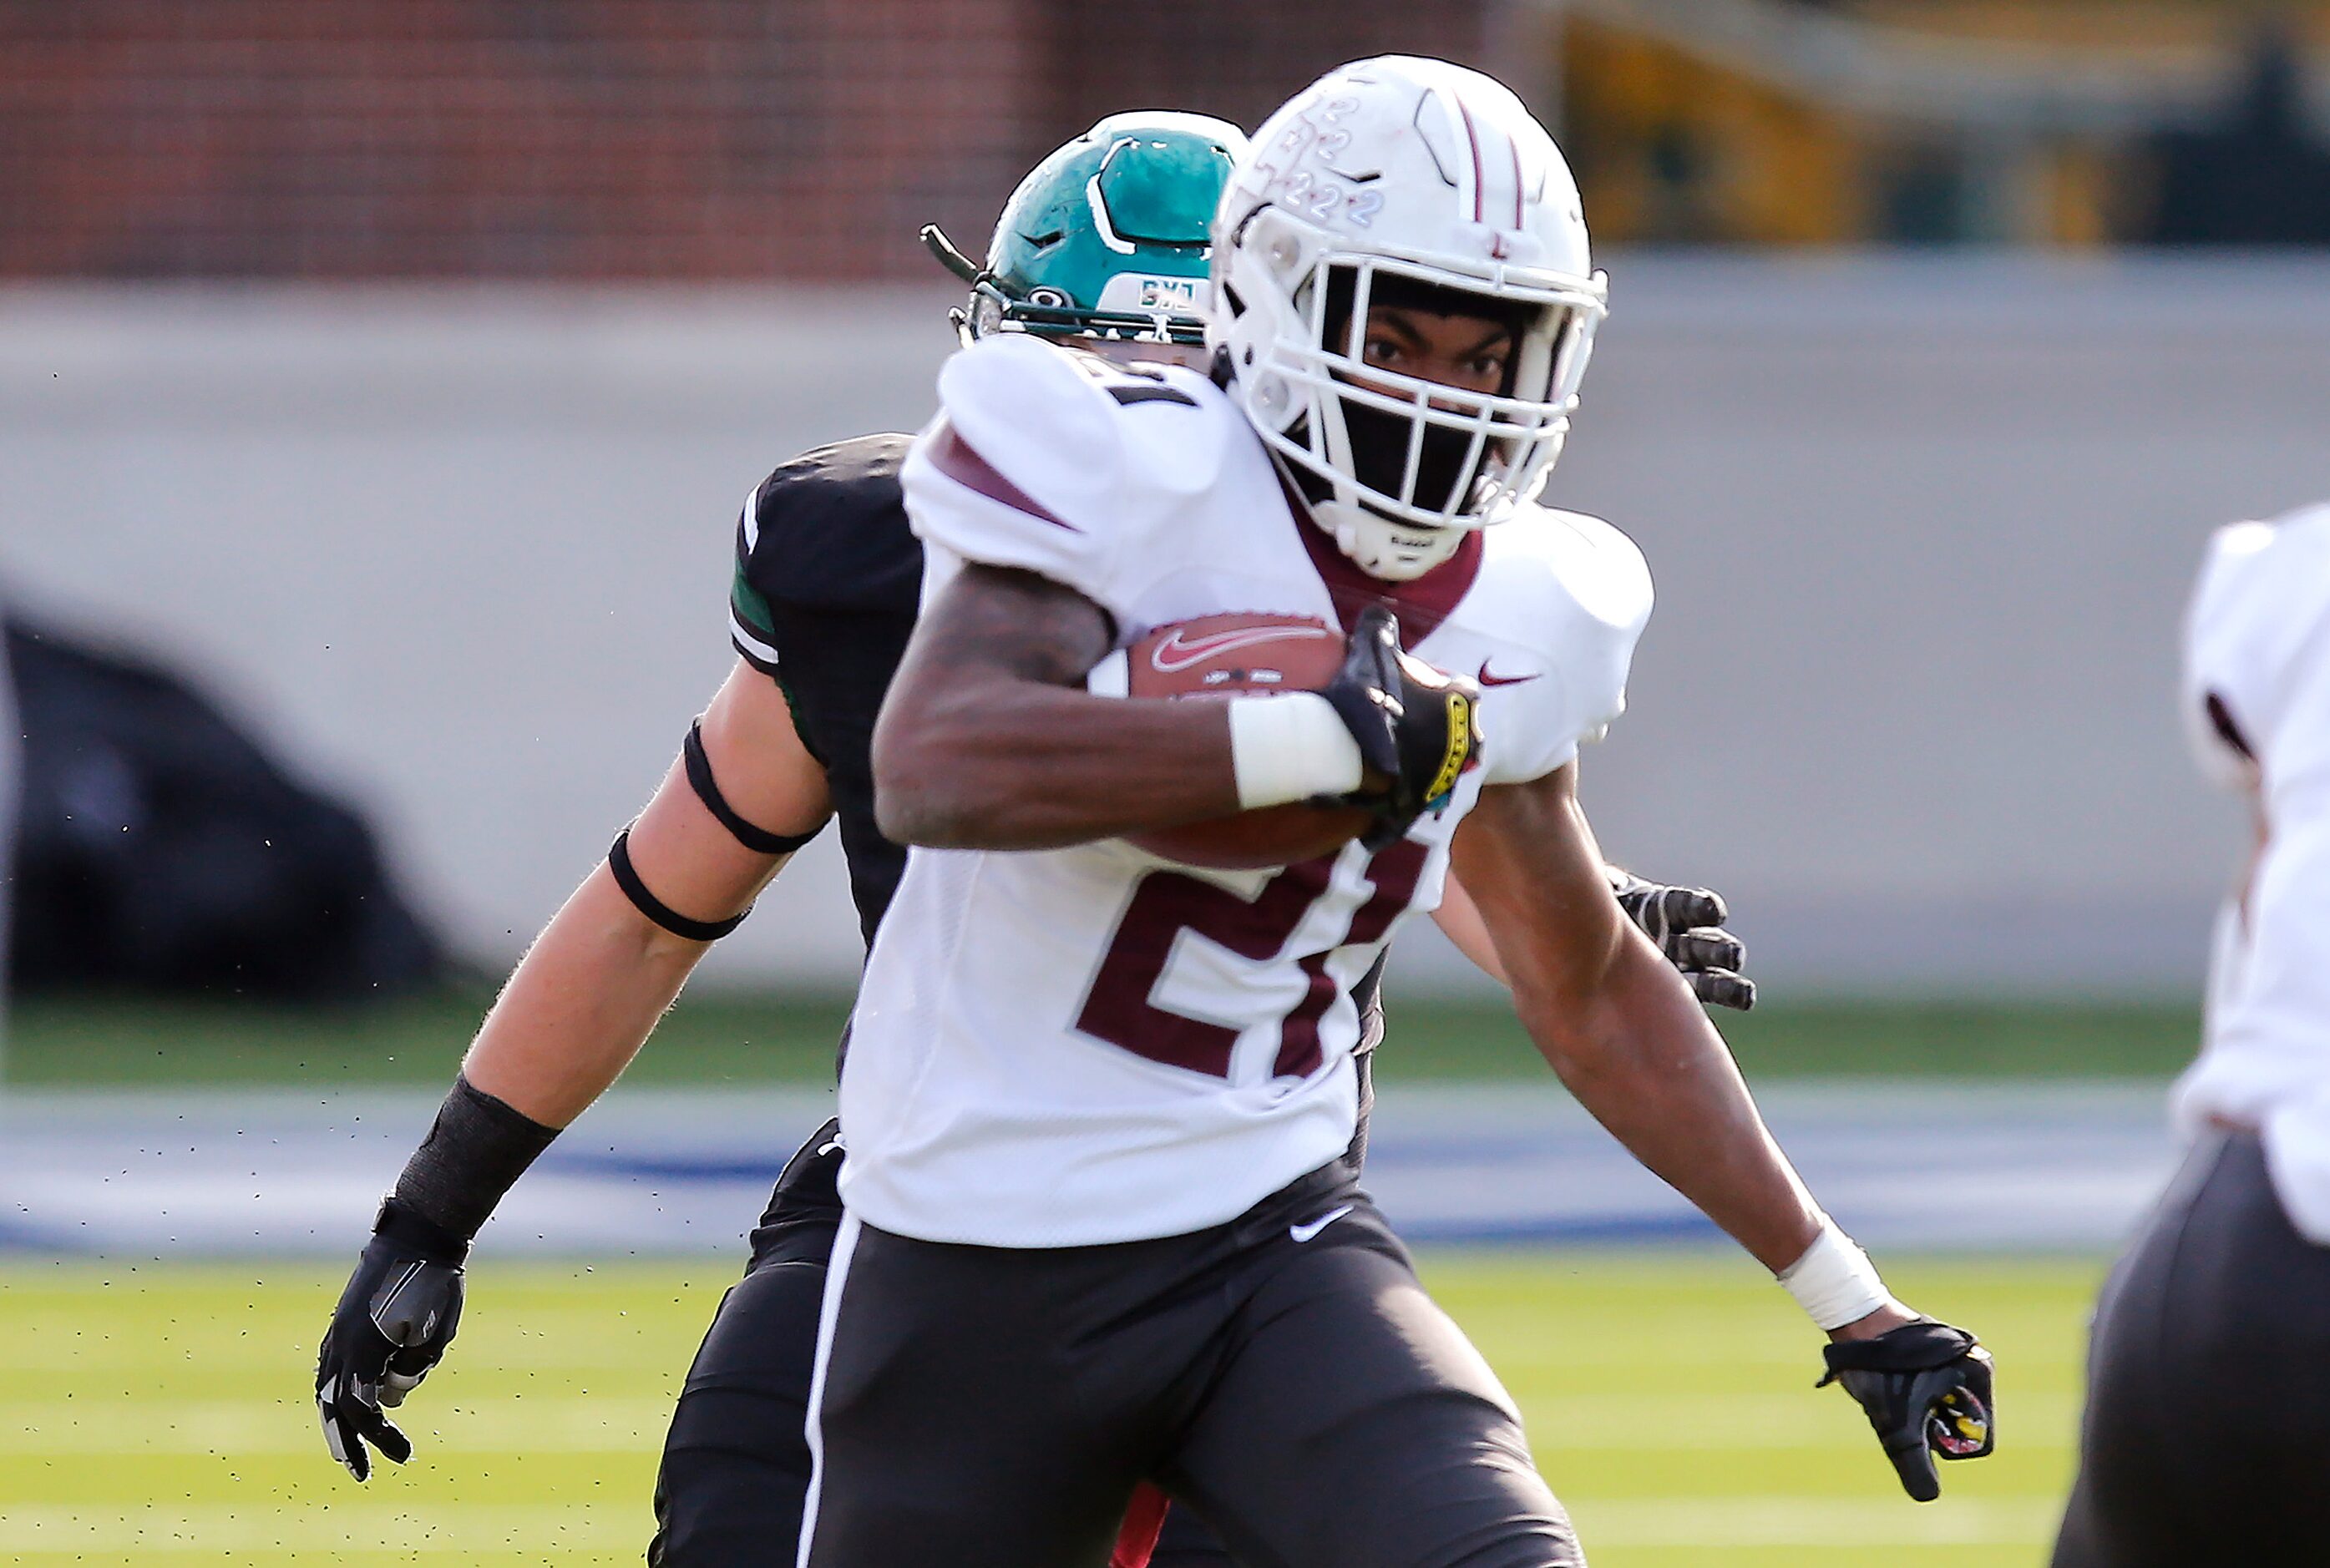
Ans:
[{"label": "brown leather football tucked under number 21's arm", "polygon": [[[1156,627],[1125,655],[1128,697],[1242,697],[1309,692],[1342,664],[1342,631],[1305,615],[1200,615]],[[1358,806],[1288,801],[1130,841],[1151,855],[1216,871],[1254,871],[1330,855],[1368,829]]]}]

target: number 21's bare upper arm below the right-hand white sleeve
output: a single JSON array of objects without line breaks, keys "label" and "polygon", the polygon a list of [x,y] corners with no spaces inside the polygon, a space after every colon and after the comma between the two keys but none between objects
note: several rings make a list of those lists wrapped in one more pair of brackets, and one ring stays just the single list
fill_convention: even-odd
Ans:
[{"label": "number 21's bare upper arm below the right-hand white sleeve", "polygon": [[1517,997],[1577,997],[1610,972],[1629,925],[1577,804],[1577,767],[1489,785],[1449,843]]}]

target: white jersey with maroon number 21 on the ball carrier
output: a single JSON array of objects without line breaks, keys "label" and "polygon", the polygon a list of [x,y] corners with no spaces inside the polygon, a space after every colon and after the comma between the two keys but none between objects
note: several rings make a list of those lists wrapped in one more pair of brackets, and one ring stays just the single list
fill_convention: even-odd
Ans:
[{"label": "white jersey with maroon number 21 on the ball carrier", "polygon": [[1617,529],[1535,510],[1417,582],[1368,580],[1191,370],[997,336],[948,361],[939,396],[904,466],[925,596],[962,561],[1035,571],[1102,606],[1118,645],[1223,610],[1349,624],[1391,596],[1410,650],[1482,685],[1480,767],[1372,857],[1200,871],[1116,839],[909,855],[841,1074],[848,1207],[988,1246],[1202,1230],[1344,1151],[1351,988],[1440,902],[1482,785],[1559,769],[1617,715],[1650,575]]}]

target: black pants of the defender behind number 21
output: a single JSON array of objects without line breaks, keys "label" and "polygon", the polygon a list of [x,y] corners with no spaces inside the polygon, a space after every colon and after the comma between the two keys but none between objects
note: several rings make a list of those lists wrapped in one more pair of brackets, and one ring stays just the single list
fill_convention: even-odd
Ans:
[{"label": "black pants of the defender behind number 21", "polygon": [[[687,1370],[655,1475],[655,1568],[792,1568],[809,1493],[809,1377],[818,1302],[841,1226],[836,1123],[785,1163],[753,1232],[753,1260],[729,1286]],[[1177,1507],[1151,1568],[1230,1568],[1221,1540]]]}]

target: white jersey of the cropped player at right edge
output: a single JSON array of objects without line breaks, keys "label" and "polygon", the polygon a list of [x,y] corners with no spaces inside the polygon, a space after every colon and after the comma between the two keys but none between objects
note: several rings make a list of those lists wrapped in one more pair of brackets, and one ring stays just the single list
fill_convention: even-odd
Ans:
[{"label": "white jersey of the cropped player at right edge", "polygon": [[2265,841],[2218,918],[2176,1114],[2188,1132],[2209,1116],[2260,1128],[2290,1221],[2330,1244],[2330,506],[2216,534],[2183,708],[2202,764],[2255,790]]}]

